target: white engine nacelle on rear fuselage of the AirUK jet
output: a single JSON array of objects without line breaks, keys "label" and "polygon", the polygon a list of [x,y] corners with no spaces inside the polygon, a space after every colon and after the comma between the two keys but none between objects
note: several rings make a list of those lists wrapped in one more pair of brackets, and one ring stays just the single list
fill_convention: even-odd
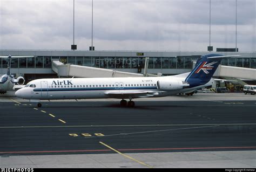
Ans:
[{"label": "white engine nacelle on rear fuselage of the AirUK jet", "polygon": [[157,89],[158,90],[179,90],[185,87],[188,87],[189,84],[184,81],[178,81],[178,80],[159,80],[157,81]]}]

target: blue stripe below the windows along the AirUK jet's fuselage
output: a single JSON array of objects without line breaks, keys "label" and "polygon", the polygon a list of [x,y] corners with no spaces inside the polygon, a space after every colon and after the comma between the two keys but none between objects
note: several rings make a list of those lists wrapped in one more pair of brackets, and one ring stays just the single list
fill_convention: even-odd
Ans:
[{"label": "blue stripe below the windows along the AirUK jet's fuselage", "polygon": [[35,88],[33,91],[45,92],[45,91],[100,91],[100,90],[149,90],[157,89],[156,86],[150,87],[124,87],[124,88],[115,88],[115,87],[106,87],[106,88]]}]

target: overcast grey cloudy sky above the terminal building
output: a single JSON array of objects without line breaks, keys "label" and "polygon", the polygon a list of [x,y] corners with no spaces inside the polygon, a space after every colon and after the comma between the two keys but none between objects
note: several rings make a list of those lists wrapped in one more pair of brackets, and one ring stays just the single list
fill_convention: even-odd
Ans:
[{"label": "overcast grey cloudy sky above the terminal building", "polygon": [[[75,0],[75,44],[92,44],[92,0]],[[95,50],[207,51],[210,0],[93,0]],[[0,0],[0,49],[70,50],[73,0]],[[211,0],[211,46],[235,48],[235,0]],[[237,47],[256,51],[256,0],[237,0]]]}]

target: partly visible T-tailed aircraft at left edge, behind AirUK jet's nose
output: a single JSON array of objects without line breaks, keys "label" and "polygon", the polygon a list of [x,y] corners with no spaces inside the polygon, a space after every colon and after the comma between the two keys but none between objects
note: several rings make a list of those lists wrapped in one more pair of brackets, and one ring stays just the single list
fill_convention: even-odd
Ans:
[{"label": "partly visible T-tailed aircraft at left edge, behind AirUK jet's nose", "polygon": [[7,73],[3,74],[0,77],[0,93],[4,94],[6,91],[14,90],[15,84],[23,85],[25,82],[25,79],[23,77],[18,77],[17,79],[14,78],[14,75],[11,75],[10,73],[10,64],[11,64],[11,58],[24,58],[24,57],[34,57],[34,56],[0,56],[0,58],[8,59],[7,63]]}]

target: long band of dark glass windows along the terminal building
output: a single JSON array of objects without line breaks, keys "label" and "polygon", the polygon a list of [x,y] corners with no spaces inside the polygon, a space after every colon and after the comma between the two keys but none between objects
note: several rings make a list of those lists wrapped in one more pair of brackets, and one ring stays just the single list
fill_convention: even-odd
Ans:
[{"label": "long band of dark glass windows along the terminal building", "polygon": [[[87,57],[87,56],[38,56],[30,58],[11,59],[12,68],[51,68],[52,59],[66,61],[69,64],[76,64],[89,67],[100,68],[142,68],[145,66],[145,57]],[[150,57],[149,68],[170,68],[170,69],[192,69],[192,60],[196,61],[196,56],[179,57]],[[256,68],[255,58],[224,58],[221,65]],[[0,58],[0,68],[7,67],[7,59]]]}]

